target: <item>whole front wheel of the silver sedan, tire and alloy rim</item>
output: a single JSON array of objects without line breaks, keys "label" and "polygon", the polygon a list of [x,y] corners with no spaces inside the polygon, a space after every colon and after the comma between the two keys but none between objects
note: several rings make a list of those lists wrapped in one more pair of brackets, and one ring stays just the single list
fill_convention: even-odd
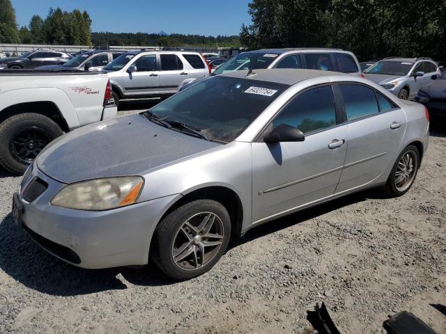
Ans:
[{"label": "whole front wheel of the silver sedan, tire and alloy rim", "polygon": [[231,220],[224,206],[215,200],[194,200],[157,226],[151,257],[171,278],[188,280],[220,260],[230,236]]}]

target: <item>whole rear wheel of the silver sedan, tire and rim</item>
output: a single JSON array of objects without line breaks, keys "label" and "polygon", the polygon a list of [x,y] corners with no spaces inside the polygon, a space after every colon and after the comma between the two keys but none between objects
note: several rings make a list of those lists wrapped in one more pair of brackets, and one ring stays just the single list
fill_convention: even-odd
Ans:
[{"label": "whole rear wheel of the silver sedan, tire and rim", "polygon": [[390,172],[384,191],[389,197],[398,197],[407,193],[420,166],[420,152],[414,145],[407,146],[395,162]]}]

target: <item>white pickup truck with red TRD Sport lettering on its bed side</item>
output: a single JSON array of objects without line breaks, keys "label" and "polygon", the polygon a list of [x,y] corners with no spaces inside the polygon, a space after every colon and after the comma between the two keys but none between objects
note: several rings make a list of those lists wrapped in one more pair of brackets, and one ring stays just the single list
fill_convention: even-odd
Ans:
[{"label": "white pickup truck with red TRD Sport lettering on its bed side", "polygon": [[116,112],[105,73],[0,71],[0,166],[21,174],[54,138]]}]

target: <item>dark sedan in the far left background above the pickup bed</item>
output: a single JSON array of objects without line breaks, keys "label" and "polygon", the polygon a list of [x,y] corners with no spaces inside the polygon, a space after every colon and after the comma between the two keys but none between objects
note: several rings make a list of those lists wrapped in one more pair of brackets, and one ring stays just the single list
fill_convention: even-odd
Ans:
[{"label": "dark sedan in the far left background above the pickup bed", "polygon": [[25,52],[22,56],[0,59],[0,70],[7,68],[36,68],[43,65],[59,65],[72,58],[62,51],[38,50]]}]

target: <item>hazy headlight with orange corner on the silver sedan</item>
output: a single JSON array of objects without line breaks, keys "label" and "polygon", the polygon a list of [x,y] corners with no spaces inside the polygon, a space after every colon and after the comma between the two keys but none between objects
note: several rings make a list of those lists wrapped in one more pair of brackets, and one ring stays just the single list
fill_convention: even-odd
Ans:
[{"label": "hazy headlight with orange corner on the silver sedan", "polygon": [[105,177],[69,184],[51,200],[68,209],[102,211],[137,201],[144,180],[139,176]]}]

